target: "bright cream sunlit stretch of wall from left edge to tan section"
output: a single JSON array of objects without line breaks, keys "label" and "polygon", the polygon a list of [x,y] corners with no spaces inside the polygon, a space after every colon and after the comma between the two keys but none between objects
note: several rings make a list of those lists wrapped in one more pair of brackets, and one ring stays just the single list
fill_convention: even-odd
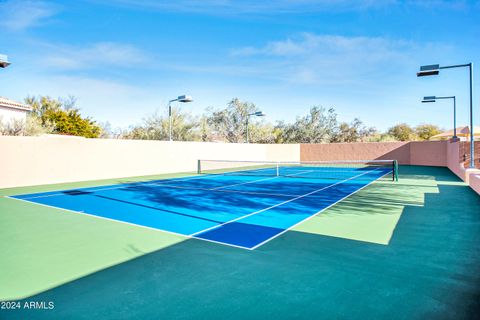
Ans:
[{"label": "bright cream sunlit stretch of wall from left edge to tan section", "polygon": [[0,137],[0,188],[195,171],[198,159],[298,161],[298,145]]}]

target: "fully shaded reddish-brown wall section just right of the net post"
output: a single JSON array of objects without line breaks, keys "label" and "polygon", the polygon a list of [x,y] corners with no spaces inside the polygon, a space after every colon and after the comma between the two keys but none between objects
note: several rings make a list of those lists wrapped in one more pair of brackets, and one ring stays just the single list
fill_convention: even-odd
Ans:
[{"label": "fully shaded reddish-brown wall section just right of the net post", "polygon": [[410,142],[410,163],[418,166],[447,166],[448,141]]}]

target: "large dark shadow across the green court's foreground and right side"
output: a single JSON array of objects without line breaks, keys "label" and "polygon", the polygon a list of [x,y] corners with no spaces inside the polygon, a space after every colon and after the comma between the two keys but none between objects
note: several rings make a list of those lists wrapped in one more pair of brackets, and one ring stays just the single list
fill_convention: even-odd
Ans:
[{"label": "large dark shadow across the green court's foreground and right side", "polygon": [[450,184],[458,180],[448,172],[427,170],[442,183],[422,206],[404,206],[388,246],[296,231],[254,251],[191,239],[24,300],[53,301],[52,310],[1,315],[472,319],[480,308],[480,197]]}]

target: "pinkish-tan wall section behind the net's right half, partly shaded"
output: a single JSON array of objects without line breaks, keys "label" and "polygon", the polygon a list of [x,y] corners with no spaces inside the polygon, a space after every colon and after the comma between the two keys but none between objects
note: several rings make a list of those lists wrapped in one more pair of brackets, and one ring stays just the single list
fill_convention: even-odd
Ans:
[{"label": "pinkish-tan wall section behind the net's right half, partly shaded", "polygon": [[397,159],[400,164],[409,164],[410,146],[408,142],[301,144],[300,159],[302,161]]}]

